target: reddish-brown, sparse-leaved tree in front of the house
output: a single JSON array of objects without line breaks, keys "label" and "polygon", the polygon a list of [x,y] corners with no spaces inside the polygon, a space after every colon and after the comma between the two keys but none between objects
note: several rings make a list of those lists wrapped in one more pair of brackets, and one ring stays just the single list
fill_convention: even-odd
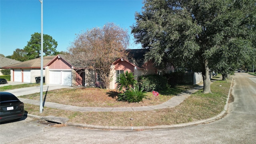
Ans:
[{"label": "reddish-brown, sparse-leaved tree in front of the house", "polygon": [[123,56],[129,45],[127,30],[107,23],[100,28],[92,28],[77,35],[69,48],[70,59],[96,72],[103,86],[109,88],[112,80],[110,68],[112,63]]}]

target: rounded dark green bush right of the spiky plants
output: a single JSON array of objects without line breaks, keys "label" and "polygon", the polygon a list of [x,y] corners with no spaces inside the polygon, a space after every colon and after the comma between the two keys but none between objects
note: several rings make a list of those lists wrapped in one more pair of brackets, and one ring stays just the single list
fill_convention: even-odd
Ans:
[{"label": "rounded dark green bush right of the spiky plants", "polygon": [[166,90],[168,88],[167,78],[157,74],[140,76],[138,78],[138,83],[140,88],[146,92]]}]

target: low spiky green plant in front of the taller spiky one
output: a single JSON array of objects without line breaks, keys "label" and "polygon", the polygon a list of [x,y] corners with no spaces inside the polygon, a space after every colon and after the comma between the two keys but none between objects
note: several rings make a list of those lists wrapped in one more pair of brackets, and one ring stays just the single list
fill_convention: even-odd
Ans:
[{"label": "low spiky green plant in front of the taller spiky one", "polygon": [[140,90],[139,85],[137,85],[130,90],[126,90],[125,95],[128,102],[140,102],[146,96],[146,92]]}]

